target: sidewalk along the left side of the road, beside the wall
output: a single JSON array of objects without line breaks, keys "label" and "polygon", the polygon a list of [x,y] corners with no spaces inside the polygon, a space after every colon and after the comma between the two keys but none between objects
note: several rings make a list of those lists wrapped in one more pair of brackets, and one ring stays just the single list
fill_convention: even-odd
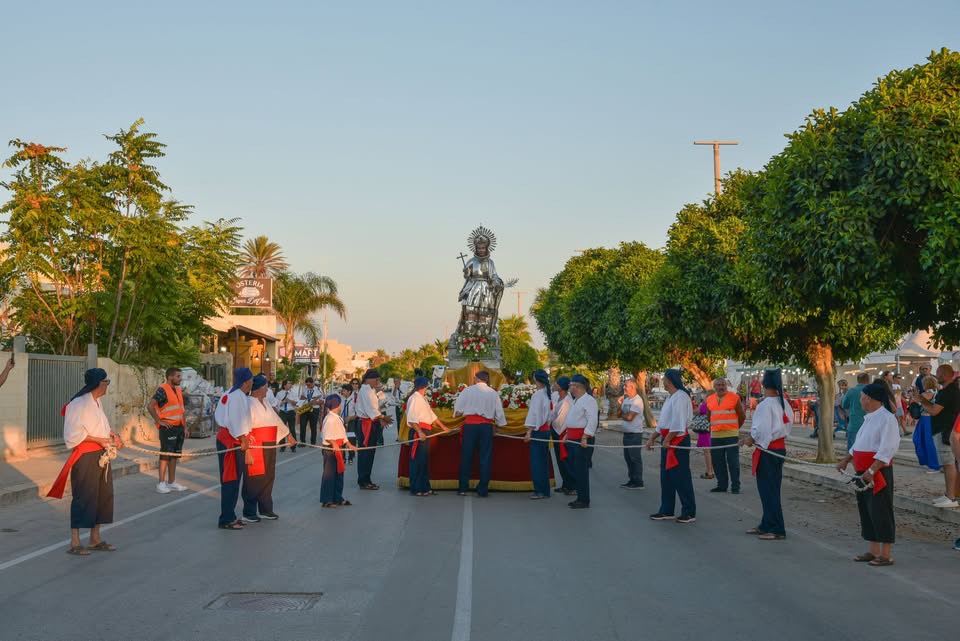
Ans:
[{"label": "sidewalk along the left side of the road, beside the wall", "polygon": [[[184,452],[200,453],[216,449],[216,440],[188,438],[183,444]],[[133,445],[159,450],[156,442],[134,441]],[[50,486],[60,474],[69,451],[61,446],[31,450],[30,457],[22,461],[0,461],[0,506],[14,505],[35,498],[45,498]],[[158,459],[143,452],[120,450],[119,456],[110,465],[113,478],[149,472],[157,469]],[[67,483],[67,494],[70,484]]]}]

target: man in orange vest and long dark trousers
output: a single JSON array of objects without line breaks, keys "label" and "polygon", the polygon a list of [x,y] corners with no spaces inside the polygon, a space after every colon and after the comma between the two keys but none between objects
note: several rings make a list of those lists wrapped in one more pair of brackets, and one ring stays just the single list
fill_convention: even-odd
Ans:
[{"label": "man in orange vest and long dark trousers", "polygon": [[747,419],[740,395],[727,390],[727,381],[713,381],[714,393],[707,397],[710,417],[710,445],[717,487],[711,492],[740,493],[740,426]]}]

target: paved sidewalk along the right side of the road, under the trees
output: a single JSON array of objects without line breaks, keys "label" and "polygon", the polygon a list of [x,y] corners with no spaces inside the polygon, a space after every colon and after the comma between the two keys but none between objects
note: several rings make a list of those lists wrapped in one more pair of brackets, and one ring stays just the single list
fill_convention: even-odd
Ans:
[{"label": "paved sidewalk along the right side of the road, under the trees", "polygon": [[[620,431],[619,420],[603,420],[600,421],[600,425],[612,432]],[[747,419],[747,422],[744,423],[742,431],[744,434],[749,433],[750,419]],[[813,429],[807,425],[794,425],[790,436],[787,438],[787,456],[809,460],[813,463],[816,460],[817,441],[810,438],[812,433]],[[960,508],[939,508],[931,505],[934,499],[943,496],[943,474],[941,472],[930,473],[927,468],[921,468],[917,464],[913,441],[910,439],[909,436],[900,439],[900,449],[893,459],[895,471],[894,506],[939,519],[945,523],[960,525]],[[834,442],[834,450],[838,455],[846,451],[846,444],[846,438],[842,433],[839,434]],[[746,470],[748,475],[750,474],[750,457],[748,454],[752,451],[752,449],[745,448],[740,455],[740,466]],[[695,465],[702,467],[703,463]],[[848,471],[852,473],[852,467],[848,468]],[[793,480],[814,483],[848,494],[853,493],[847,482],[848,479],[842,477],[833,466],[786,463],[783,467],[783,474]]]}]

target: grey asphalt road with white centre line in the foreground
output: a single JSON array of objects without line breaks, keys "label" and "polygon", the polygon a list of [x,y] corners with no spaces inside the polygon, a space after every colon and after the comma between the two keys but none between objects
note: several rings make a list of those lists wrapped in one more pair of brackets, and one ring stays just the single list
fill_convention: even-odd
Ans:
[{"label": "grey asphalt road with white centre line in the foreground", "polygon": [[[392,438],[388,438],[392,440]],[[606,442],[616,442],[609,435]],[[852,495],[785,488],[789,538],[760,542],[753,481],[740,496],[697,479],[698,521],[653,522],[659,488],[628,492],[619,452],[594,458],[593,507],[569,499],[414,498],[390,485],[397,450],[377,457],[355,505],[319,505],[320,456],[280,454],[279,521],[216,529],[215,460],[159,495],[150,475],[116,481],[116,553],[66,555],[69,501],[0,508],[0,639],[584,641],[588,639],[935,639],[956,634],[960,554],[911,531],[896,566],[863,551]],[[700,463],[702,465],[702,463]],[[205,493],[197,490],[211,488]],[[9,532],[6,530],[15,530]],[[322,593],[294,611],[228,592]],[[214,605],[216,605],[214,603]]]}]

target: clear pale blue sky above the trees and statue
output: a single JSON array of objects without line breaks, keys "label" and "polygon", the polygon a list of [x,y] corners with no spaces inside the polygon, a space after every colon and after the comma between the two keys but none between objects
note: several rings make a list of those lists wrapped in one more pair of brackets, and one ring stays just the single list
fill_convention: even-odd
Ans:
[{"label": "clear pale blue sky above the trees and statue", "polygon": [[332,276],[331,337],[392,351],[452,331],[478,223],[526,313],[576,249],[663,245],[713,189],[695,139],[759,169],[958,24],[956,0],[18,2],[0,139],[102,158],[146,118],[174,197]]}]

